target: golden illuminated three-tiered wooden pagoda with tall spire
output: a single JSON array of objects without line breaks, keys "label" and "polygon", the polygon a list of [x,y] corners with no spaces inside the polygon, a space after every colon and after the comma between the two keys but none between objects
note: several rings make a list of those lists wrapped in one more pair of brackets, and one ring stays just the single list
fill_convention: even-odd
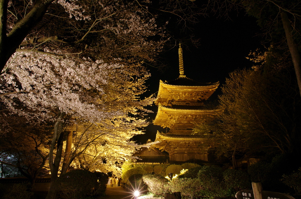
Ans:
[{"label": "golden illuminated three-tiered wooden pagoda with tall spire", "polygon": [[169,128],[169,132],[157,132],[154,147],[169,153],[169,162],[207,162],[206,137],[193,135],[194,123],[210,121],[218,110],[209,110],[204,102],[216,91],[219,82],[200,83],[184,75],[183,55],[179,47],[180,75],[171,82],[160,80],[155,104],[158,112],[155,125]]}]

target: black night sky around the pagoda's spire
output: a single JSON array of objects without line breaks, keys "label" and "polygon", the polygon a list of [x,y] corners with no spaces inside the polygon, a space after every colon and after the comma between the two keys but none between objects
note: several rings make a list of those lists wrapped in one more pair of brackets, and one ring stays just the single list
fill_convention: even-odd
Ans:
[{"label": "black night sky around the pagoda's spire", "polygon": [[[261,38],[256,36],[260,33],[256,19],[248,16],[234,16],[231,20],[200,17],[200,21],[194,27],[194,34],[200,38],[200,46],[190,47],[182,45],[184,74],[198,82],[225,83],[228,74],[238,68],[249,68],[252,62],[245,57],[250,51],[261,48]],[[155,94],[159,89],[159,81],[172,81],[179,76],[178,46],[165,55],[169,66],[164,72],[151,68],[151,77],[147,82],[147,94]],[[220,87],[219,86],[219,87]],[[210,99],[217,99],[221,94],[218,88]],[[157,114],[157,106],[153,105],[153,114],[149,115],[149,121],[154,120]],[[156,138],[156,132],[166,132],[160,126],[150,124],[145,127],[144,135],[136,135],[133,140],[144,144],[147,139],[152,141]]]}]

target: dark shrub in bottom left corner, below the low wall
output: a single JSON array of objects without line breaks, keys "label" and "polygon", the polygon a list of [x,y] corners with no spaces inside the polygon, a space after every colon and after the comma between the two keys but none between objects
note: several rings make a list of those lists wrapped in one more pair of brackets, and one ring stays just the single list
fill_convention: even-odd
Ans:
[{"label": "dark shrub in bottom left corner, below the low wall", "polygon": [[3,185],[0,186],[1,199],[30,199],[33,192],[30,192],[30,183],[17,183],[13,184],[9,189],[4,189]]}]

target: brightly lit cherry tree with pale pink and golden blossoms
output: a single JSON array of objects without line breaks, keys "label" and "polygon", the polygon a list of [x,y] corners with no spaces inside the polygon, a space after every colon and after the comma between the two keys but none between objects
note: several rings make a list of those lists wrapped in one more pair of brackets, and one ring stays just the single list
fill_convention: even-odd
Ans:
[{"label": "brightly lit cherry tree with pale pink and golden blossoms", "polygon": [[124,156],[135,148],[129,139],[141,133],[139,127],[147,125],[141,114],[147,111],[144,106],[152,103],[152,98],[139,98],[149,77],[144,67],[92,58],[58,59],[39,52],[26,52],[10,61],[9,72],[1,77],[0,96],[6,110],[30,122],[53,124],[49,144],[50,192],[54,191],[63,138],[67,130],[72,130],[70,126],[85,122],[93,127],[74,138],[77,148],[72,159],[87,152],[87,144],[97,142],[120,148],[132,146]]}]

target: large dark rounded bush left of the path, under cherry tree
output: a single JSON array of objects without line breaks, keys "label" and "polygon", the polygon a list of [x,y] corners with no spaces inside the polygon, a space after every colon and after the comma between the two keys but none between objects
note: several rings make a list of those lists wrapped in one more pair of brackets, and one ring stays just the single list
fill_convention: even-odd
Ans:
[{"label": "large dark rounded bush left of the path, under cherry tree", "polygon": [[65,195],[67,198],[84,198],[104,195],[107,181],[107,174],[74,170],[62,174],[55,184],[60,195]]}]

